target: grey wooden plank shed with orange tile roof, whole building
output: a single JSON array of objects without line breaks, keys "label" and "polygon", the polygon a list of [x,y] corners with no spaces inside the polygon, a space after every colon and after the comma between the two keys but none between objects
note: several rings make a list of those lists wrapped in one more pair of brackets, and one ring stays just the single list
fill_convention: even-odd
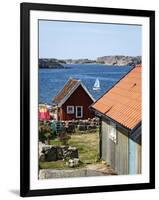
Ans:
[{"label": "grey wooden plank shed with orange tile roof, whole building", "polygon": [[141,70],[137,65],[91,106],[100,118],[100,157],[117,174],[141,173]]}]

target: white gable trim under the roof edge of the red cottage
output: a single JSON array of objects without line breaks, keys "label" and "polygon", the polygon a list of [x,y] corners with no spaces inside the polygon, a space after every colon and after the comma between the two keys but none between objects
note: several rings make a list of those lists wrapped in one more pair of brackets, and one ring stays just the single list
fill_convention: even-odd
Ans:
[{"label": "white gable trim under the roof edge of the red cottage", "polygon": [[78,82],[75,84],[75,86],[70,90],[70,92],[68,92],[68,94],[65,96],[65,98],[63,98],[63,100],[58,104],[58,107],[61,107],[80,85],[82,86],[82,88],[85,90],[85,92],[88,94],[88,96],[94,102],[95,99],[92,97],[92,95],[89,93],[87,88],[83,85],[83,83],[80,80],[78,80]]}]

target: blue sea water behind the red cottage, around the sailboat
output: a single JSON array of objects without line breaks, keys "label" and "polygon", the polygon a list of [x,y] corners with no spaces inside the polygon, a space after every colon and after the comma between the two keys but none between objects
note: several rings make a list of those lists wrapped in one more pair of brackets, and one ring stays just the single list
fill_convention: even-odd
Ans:
[{"label": "blue sea water behind the red cottage, around the sailboat", "polygon": [[[52,103],[52,99],[70,78],[80,79],[95,99],[98,99],[130,69],[130,66],[103,64],[65,64],[65,69],[39,69],[39,103]],[[96,78],[101,89],[93,90]]]}]

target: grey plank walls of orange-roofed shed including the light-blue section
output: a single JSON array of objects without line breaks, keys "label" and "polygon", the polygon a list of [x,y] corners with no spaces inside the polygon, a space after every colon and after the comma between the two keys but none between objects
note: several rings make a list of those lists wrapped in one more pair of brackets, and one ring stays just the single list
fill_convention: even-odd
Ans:
[{"label": "grey plank walls of orange-roofed shed including the light-blue section", "polygon": [[[101,119],[101,159],[116,171],[117,174],[141,174],[141,126],[133,133],[116,127],[116,143],[109,138],[110,121]],[[136,135],[136,137],[135,137]]]}]

